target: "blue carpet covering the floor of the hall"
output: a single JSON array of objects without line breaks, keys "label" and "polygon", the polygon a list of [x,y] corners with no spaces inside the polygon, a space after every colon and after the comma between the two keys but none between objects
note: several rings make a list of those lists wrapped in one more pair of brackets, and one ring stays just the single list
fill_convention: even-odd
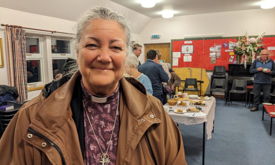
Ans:
[{"label": "blue carpet covering the floor of the hall", "polygon": [[[262,121],[262,105],[255,112],[244,106],[237,101],[224,106],[224,99],[216,99],[214,133],[205,140],[205,165],[275,164],[275,119],[270,136],[270,116],[264,113]],[[203,124],[179,128],[187,164],[201,165]]]}]

